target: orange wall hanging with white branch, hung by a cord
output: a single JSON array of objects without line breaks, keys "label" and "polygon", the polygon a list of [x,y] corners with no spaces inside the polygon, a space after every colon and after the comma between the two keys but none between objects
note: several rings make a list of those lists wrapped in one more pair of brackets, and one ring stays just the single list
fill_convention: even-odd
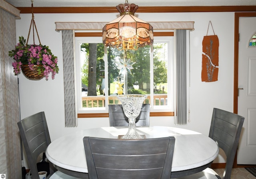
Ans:
[{"label": "orange wall hanging with white branch, hung by a cord", "polygon": [[[212,26],[212,22],[209,22],[209,26]],[[202,81],[212,82],[218,80],[218,65],[219,65],[219,39],[218,36],[208,35],[208,30],[206,36],[202,41]]]}]

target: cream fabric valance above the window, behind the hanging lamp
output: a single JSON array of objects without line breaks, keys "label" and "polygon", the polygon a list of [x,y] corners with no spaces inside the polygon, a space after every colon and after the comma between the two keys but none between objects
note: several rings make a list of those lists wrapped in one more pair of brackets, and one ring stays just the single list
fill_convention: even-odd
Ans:
[{"label": "cream fabric valance above the window, behind the hanging lamp", "polygon": [[[100,30],[108,22],[55,22],[56,31],[60,30]],[[154,31],[158,30],[194,30],[194,22],[148,22],[154,28]]]}]

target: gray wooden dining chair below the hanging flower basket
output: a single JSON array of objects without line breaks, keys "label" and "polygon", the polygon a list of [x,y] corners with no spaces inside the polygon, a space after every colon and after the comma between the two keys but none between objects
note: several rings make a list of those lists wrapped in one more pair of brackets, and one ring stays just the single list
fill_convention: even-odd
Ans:
[{"label": "gray wooden dining chair below the hanging flower basket", "polygon": [[[39,179],[37,159],[51,143],[44,112],[38,112],[19,121],[18,128],[32,174],[30,179]],[[61,171],[56,171],[56,169],[51,169],[51,171],[52,173],[46,179],[78,179]]]}]

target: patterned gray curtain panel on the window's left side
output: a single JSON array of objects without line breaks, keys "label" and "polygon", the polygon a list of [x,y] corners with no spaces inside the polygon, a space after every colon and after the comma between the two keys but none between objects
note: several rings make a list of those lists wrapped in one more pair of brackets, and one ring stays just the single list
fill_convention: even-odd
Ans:
[{"label": "patterned gray curtain panel on the window's left side", "polygon": [[65,127],[77,126],[74,30],[62,30]]}]

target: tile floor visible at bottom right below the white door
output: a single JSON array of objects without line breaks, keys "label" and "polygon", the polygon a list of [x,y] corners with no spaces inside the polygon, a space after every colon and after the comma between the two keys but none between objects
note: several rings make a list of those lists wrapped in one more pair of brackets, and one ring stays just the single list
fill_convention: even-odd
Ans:
[{"label": "tile floor visible at bottom right below the white door", "polygon": [[[224,169],[214,169],[216,173],[223,176]],[[256,179],[249,171],[245,168],[233,168],[231,173],[231,179]]]}]

